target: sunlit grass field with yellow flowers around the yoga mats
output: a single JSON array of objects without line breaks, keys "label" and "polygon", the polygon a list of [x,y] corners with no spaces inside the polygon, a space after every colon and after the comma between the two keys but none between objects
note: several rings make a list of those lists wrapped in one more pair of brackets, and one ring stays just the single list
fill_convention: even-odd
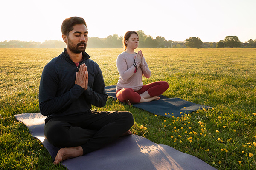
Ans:
[{"label": "sunlit grass field with yellow flowers around the yoga mats", "polygon": [[[170,118],[122,105],[109,98],[99,111],[130,111],[131,131],[158,144],[196,156],[218,170],[256,169],[256,49],[140,48],[150,79],[164,80],[163,94],[214,109]],[[39,112],[38,88],[44,65],[63,49],[0,49],[0,169],[66,168],[52,164],[39,140],[13,115]],[[119,78],[122,48],[88,48],[102,69],[105,85]],[[166,113],[168,114],[168,113]],[[131,162],[132,163],[132,162]]]}]

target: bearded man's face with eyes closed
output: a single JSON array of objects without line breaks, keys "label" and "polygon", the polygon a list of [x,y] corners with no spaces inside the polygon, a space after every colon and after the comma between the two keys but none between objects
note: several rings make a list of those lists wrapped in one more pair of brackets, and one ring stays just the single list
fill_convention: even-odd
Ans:
[{"label": "bearded man's face with eyes closed", "polygon": [[84,24],[76,24],[67,36],[67,48],[73,53],[84,52],[88,42],[88,31]]}]

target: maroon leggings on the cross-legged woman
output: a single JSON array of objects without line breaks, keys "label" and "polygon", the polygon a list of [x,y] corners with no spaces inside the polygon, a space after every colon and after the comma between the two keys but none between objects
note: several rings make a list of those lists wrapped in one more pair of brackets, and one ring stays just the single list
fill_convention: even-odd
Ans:
[{"label": "maroon leggings on the cross-legged woman", "polygon": [[142,88],[138,91],[134,91],[132,88],[122,88],[116,91],[116,98],[120,102],[130,102],[130,103],[139,103],[140,94],[148,91],[150,97],[159,96],[169,88],[168,82],[159,81],[152,82],[147,85],[143,85]]}]

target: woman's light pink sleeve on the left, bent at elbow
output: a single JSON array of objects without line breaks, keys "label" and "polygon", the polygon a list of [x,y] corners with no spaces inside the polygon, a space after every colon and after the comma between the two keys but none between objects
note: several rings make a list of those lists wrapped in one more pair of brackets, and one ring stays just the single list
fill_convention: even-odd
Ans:
[{"label": "woman's light pink sleeve on the left, bent at elbow", "polygon": [[[137,65],[137,67],[138,66],[139,65]],[[124,81],[127,81],[131,76],[133,76],[135,74],[134,71],[136,68],[133,65],[131,65],[130,68],[127,68],[127,63],[126,63],[125,59],[120,55],[116,59],[116,67],[117,67],[120,77]]]}]

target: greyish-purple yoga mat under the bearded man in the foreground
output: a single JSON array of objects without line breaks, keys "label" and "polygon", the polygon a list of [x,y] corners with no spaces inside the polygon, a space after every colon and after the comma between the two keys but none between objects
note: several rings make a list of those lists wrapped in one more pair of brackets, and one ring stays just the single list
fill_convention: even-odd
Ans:
[{"label": "greyish-purple yoga mat under the bearded man in the foreground", "polygon": [[[44,137],[41,113],[14,115],[23,122],[33,137],[38,138],[55,158],[58,148]],[[122,136],[102,149],[61,162],[68,170],[216,170],[195,156],[156,144],[137,135]]]}]

